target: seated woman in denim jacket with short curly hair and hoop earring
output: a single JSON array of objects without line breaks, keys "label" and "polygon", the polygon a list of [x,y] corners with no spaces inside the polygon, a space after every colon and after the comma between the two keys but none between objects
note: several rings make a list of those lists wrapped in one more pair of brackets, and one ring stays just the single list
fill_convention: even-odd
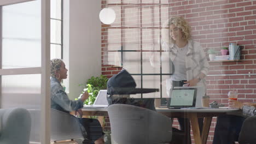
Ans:
[{"label": "seated woman in denim jacket with short curly hair and hoop earring", "polygon": [[[88,92],[85,92],[78,100],[70,100],[67,93],[61,86],[61,80],[67,79],[67,69],[65,63],[61,59],[51,60],[51,109],[56,109],[69,113],[75,111],[80,117],[83,116],[81,108],[85,99],[89,97]],[[81,129],[85,140],[83,143],[94,143],[95,140],[102,136],[102,128],[97,119],[91,118],[79,118],[79,122],[82,124]],[[94,131],[94,133],[91,133]]]}]

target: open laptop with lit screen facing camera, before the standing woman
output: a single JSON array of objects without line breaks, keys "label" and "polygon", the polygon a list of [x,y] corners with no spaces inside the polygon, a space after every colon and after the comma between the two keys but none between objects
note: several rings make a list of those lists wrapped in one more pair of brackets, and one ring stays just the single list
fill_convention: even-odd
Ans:
[{"label": "open laptop with lit screen facing camera, before the standing woman", "polygon": [[196,88],[173,88],[171,98],[168,99],[168,109],[181,109],[185,107],[195,107]]}]

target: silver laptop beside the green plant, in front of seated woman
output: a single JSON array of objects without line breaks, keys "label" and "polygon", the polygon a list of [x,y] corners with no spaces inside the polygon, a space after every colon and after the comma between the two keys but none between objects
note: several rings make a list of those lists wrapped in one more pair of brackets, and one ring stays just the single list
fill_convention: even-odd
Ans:
[{"label": "silver laptop beside the green plant, in front of seated woman", "polygon": [[108,107],[107,89],[102,89],[98,92],[98,95],[92,105],[84,105],[86,108],[104,108]]}]

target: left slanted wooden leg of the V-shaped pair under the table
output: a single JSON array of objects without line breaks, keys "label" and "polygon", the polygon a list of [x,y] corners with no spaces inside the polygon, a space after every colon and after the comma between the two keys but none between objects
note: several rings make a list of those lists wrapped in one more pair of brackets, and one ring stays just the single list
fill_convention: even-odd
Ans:
[{"label": "left slanted wooden leg of the V-shaped pair under the table", "polygon": [[193,136],[196,144],[202,144],[200,130],[199,130],[199,124],[197,119],[196,113],[189,113],[189,119],[193,131]]}]

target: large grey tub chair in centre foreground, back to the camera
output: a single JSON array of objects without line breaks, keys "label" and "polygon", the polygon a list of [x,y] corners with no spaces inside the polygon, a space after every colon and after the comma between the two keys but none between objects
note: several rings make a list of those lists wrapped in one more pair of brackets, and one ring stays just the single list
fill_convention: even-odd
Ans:
[{"label": "large grey tub chair in centre foreground, back to the camera", "polygon": [[172,121],[156,111],[113,104],[108,106],[108,115],[114,144],[171,142]]}]

